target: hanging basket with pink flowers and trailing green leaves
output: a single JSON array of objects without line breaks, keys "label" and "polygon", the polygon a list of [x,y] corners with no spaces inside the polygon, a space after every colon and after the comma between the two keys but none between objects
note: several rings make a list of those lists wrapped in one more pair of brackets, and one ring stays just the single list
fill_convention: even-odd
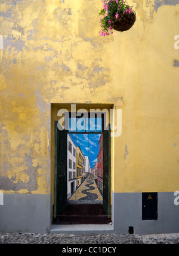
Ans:
[{"label": "hanging basket with pink flowers and trailing green leaves", "polygon": [[99,15],[102,36],[113,34],[112,29],[126,31],[134,25],[136,19],[135,11],[124,0],[104,0]]}]

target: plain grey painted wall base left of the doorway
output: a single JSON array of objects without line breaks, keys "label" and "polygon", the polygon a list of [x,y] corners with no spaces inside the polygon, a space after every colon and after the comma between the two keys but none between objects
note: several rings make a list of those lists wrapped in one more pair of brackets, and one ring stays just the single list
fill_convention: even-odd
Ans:
[{"label": "plain grey painted wall base left of the doorway", "polygon": [[0,205],[1,233],[47,233],[50,219],[50,195],[4,194],[4,205]]}]

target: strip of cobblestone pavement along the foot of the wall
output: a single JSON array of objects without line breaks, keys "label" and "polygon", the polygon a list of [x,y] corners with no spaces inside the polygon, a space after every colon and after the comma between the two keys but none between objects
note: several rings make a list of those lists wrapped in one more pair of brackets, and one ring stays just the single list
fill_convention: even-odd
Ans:
[{"label": "strip of cobblestone pavement along the foot of the wall", "polygon": [[179,234],[32,234],[0,233],[0,244],[179,244]]}]

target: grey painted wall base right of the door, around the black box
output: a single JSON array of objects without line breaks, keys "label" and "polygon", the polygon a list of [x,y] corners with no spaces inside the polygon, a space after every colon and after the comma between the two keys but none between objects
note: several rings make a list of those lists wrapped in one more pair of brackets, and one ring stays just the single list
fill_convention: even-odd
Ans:
[{"label": "grey painted wall base right of the door, around the black box", "polygon": [[179,233],[179,205],[174,192],[158,193],[158,219],[142,220],[142,193],[113,193],[113,227],[115,233],[134,234]]}]

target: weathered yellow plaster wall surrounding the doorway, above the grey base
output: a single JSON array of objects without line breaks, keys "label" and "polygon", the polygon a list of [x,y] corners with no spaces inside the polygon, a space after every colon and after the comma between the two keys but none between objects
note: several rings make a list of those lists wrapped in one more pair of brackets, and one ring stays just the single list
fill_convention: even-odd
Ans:
[{"label": "weathered yellow plaster wall surrounding the doorway, above the grey base", "polygon": [[100,0],[1,1],[1,191],[51,192],[51,103],[122,109],[114,192],[178,190],[179,2],[128,3],[134,26],[100,37]]}]

